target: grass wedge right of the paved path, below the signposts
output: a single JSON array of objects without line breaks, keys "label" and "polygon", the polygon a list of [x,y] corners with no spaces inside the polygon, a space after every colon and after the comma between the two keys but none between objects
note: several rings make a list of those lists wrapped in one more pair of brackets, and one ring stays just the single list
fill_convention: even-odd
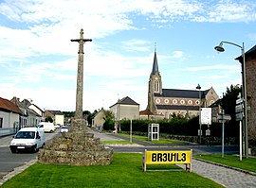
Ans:
[{"label": "grass wedge right of the paved path, below the signposts", "polygon": [[243,158],[242,161],[240,161],[238,156],[224,155],[224,158],[222,158],[221,154],[194,155],[193,158],[199,158],[210,162],[222,163],[232,167],[241,168],[256,173],[256,158]]}]

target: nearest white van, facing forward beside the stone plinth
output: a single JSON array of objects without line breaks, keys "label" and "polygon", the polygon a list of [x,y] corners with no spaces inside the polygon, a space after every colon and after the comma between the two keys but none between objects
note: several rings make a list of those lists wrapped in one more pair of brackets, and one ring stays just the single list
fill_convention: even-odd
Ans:
[{"label": "nearest white van, facing forward beside the stone plinth", "polygon": [[12,153],[19,150],[32,150],[36,152],[46,145],[46,136],[42,128],[21,128],[10,142]]}]

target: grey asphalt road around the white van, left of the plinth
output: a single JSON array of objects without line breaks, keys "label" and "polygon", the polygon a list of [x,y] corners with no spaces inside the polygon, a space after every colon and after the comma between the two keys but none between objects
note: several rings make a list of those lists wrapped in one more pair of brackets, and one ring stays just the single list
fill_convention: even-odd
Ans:
[{"label": "grey asphalt road around the white van, left of the plinth", "polygon": [[[59,130],[54,133],[46,133],[46,142],[50,142],[56,135],[60,135]],[[9,150],[11,139],[12,136],[0,137],[0,177],[6,175],[13,168],[35,160],[37,157],[37,153],[32,152],[12,154]]]}]

